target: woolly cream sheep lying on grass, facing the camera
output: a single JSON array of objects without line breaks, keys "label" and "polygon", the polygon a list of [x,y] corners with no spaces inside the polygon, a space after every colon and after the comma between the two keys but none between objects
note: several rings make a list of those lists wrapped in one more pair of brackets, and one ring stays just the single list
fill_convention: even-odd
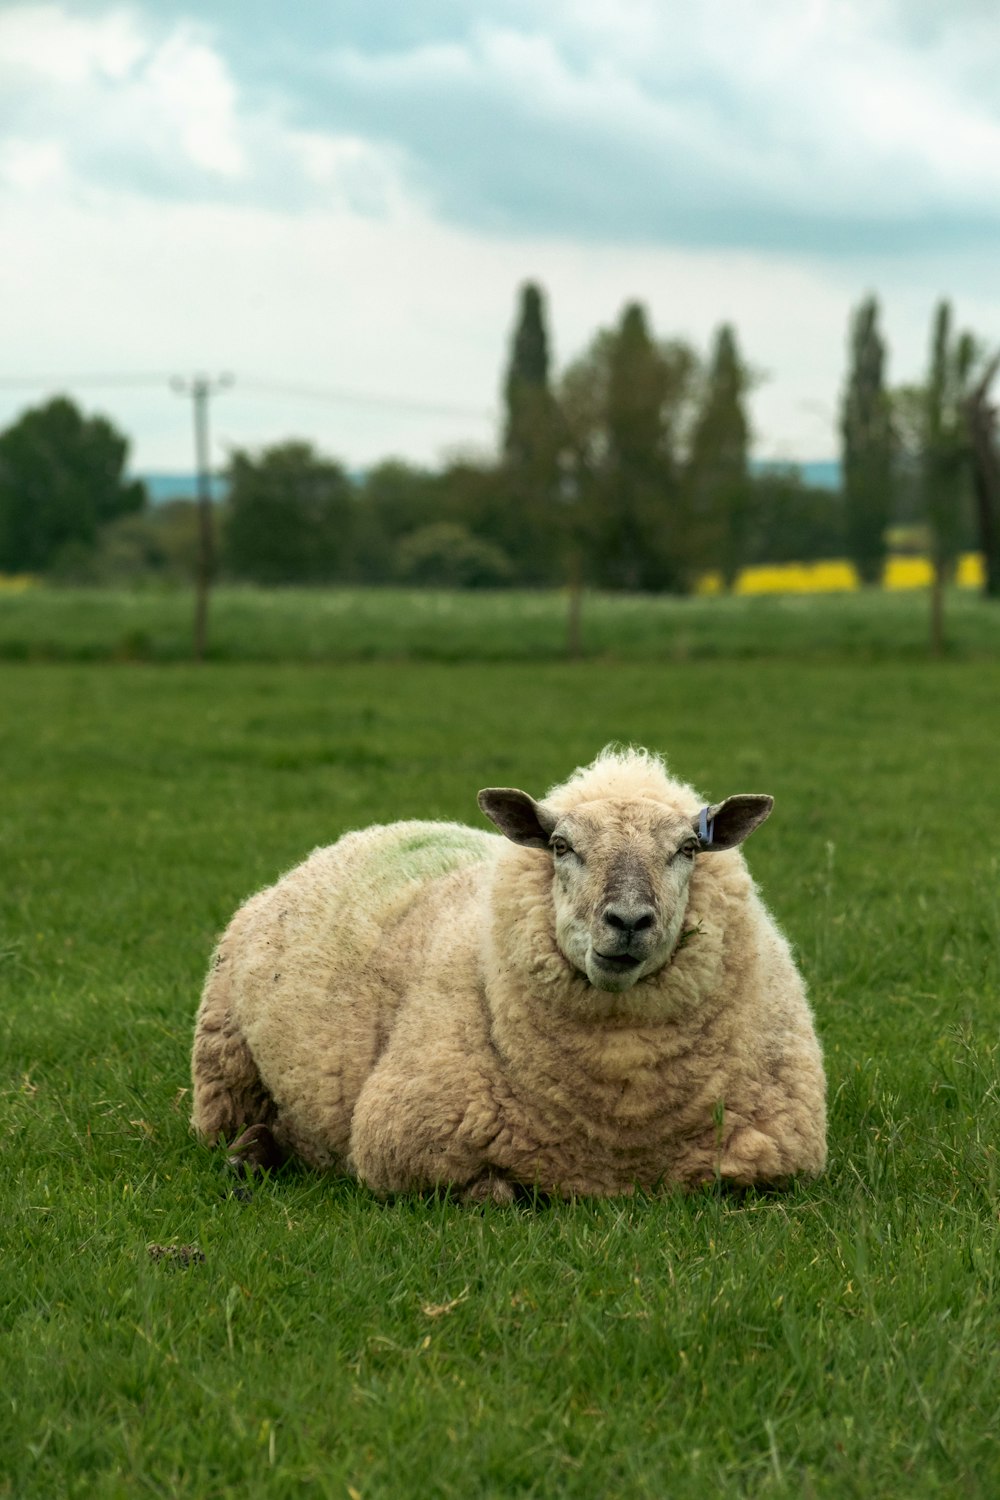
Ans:
[{"label": "woolly cream sheep lying on grass, facing the camera", "polygon": [[199,1136],[379,1197],[820,1173],[813,1016],[738,848],[772,798],[703,806],[607,747],[541,802],[478,804],[499,832],[370,826],[235,914],[195,1028]]}]

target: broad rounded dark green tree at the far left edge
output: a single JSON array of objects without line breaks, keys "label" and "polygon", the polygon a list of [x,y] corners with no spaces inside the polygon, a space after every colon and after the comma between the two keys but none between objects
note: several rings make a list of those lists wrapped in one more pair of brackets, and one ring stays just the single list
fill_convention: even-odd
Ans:
[{"label": "broad rounded dark green tree at the far left edge", "polygon": [[142,510],[127,456],[106,417],[84,417],[66,396],[0,434],[0,570],[42,573],[64,548],[90,549],[105,522]]}]

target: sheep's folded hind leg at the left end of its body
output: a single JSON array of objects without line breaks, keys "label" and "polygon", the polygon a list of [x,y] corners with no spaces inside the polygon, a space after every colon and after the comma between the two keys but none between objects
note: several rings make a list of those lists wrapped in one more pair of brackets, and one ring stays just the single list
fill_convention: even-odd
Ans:
[{"label": "sheep's folded hind leg at the left end of its body", "polygon": [[[192,1124],[211,1144],[219,1140],[232,1142],[250,1125],[270,1126],[274,1122],[274,1101],[229,1008],[229,984],[222,954],[205,984],[198,1011],[192,1082]],[[262,1138],[246,1143],[250,1156],[253,1150],[267,1154]]]}]

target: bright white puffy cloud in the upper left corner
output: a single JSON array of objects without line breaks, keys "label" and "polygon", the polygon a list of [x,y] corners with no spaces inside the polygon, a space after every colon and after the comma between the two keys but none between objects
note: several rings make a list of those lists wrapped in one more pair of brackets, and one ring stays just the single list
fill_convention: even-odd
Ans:
[{"label": "bright white puffy cloud in the upper left corner", "polygon": [[201,22],[61,4],[0,14],[0,184],[384,212],[399,152],[289,124],[247,98]]}]

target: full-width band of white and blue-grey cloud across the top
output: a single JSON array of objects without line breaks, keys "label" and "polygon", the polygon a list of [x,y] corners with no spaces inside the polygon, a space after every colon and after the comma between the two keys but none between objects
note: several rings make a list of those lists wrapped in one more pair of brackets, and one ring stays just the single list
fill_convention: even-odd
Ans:
[{"label": "full-width band of white and blue-grey cloud across the top", "polygon": [[[591,243],[927,252],[1000,228],[1000,21],[958,0],[219,0],[0,15],[0,171]],[[309,16],[312,20],[309,20]],[[279,24],[280,22],[280,24]],[[960,24],[961,22],[961,24]],[[990,44],[993,44],[991,50]],[[18,144],[21,142],[21,144]],[[31,160],[25,144],[48,153]]]}]

